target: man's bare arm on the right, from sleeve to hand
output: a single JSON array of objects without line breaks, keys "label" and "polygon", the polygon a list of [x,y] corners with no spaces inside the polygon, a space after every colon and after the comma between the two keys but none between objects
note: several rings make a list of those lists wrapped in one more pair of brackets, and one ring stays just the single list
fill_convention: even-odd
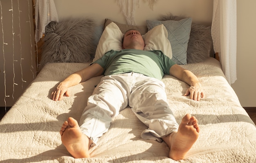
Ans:
[{"label": "man's bare arm on the right, from sleeve to hand", "polygon": [[176,78],[184,81],[188,85],[190,85],[189,89],[186,90],[184,96],[189,96],[193,100],[200,100],[200,98],[204,98],[204,93],[201,89],[201,84],[198,78],[189,70],[186,70],[179,65],[173,65],[170,68],[170,75],[175,76]]}]

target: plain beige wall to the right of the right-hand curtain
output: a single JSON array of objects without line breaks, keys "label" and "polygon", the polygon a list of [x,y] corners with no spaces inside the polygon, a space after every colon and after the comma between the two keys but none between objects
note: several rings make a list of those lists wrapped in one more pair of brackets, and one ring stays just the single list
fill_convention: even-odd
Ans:
[{"label": "plain beige wall to the right of the right-hand curtain", "polygon": [[256,1],[237,0],[237,80],[231,86],[243,107],[256,107]]}]

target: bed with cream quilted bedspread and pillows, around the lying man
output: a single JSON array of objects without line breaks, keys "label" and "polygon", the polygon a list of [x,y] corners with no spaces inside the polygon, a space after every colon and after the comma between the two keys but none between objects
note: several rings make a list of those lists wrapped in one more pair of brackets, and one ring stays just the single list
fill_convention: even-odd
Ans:
[{"label": "bed with cream quilted bedspread and pillows, around the lying man", "polygon": [[[176,54],[175,51],[186,54],[185,63],[179,64],[198,77],[205,93],[205,98],[194,101],[189,96],[182,96],[189,87],[186,83],[169,75],[162,79],[177,122],[180,123],[181,118],[190,113],[196,116],[201,129],[198,141],[184,160],[169,159],[166,143],[142,139],[140,134],[147,127],[137,119],[130,107],[112,119],[108,132],[99,138],[97,146],[90,148],[92,158],[74,159],[67,152],[61,143],[60,127],[70,116],[79,121],[88,97],[102,76],[71,87],[71,96],[61,101],[50,99],[52,90],[73,72],[89,66],[93,59],[100,57],[97,54],[101,50],[106,51],[109,45],[115,46],[119,38],[109,38],[110,33],[104,34],[108,25],[116,25],[121,33],[130,28],[110,19],[106,19],[104,25],[97,26],[87,18],[48,25],[40,72],[0,121],[0,163],[255,163],[256,126],[225,79],[220,62],[213,57],[210,27],[194,24],[189,18],[166,16],[161,20],[148,21],[146,27],[136,29],[146,34],[151,28],[154,29],[154,25],[158,27],[159,23],[167,29],[164,21],[189,21],[189,31],[186,30],[189,36],[183,37],[186,37],[183,44],[187,48],[181,50],[172,45],[172,55]],[[75,30],[76,33],[65,29]],[[66,42],[62,42],[62,46],[51,42],[57,37],[58,31],[62,32],[58,36]],[[166,31],[164,36],[170,40]],[[61,42],[60,37],[56,42]],[[106,39],[114,40],[111,44],[103,45],[103,39],[104,42],[108,42]],[[82,41],[83,45],[80,45]],[[70,46],[76,47],[72,49]],[[174,60],[182,62],[179,56],[174,57]]]}]

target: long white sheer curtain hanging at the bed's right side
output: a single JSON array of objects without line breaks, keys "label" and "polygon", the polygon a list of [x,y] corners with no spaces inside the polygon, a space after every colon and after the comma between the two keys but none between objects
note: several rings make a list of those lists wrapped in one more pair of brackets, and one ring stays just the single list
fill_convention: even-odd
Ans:
[{"label": "long white sheer curtain hanging at the bed's right side", "polygon": [[211,35],[229,84],[236,81],[236,0],[213,0]]}]

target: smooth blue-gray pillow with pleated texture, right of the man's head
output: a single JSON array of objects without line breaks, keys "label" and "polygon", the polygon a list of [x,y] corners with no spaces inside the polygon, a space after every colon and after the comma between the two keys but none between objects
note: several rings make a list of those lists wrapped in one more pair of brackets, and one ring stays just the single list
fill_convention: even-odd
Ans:
[{"label": "smooth blue-gray pillow with pleated texture, right of the man's head", "polygon": [[182,20],[146,20],[148,30],[155,26],[164,24],[168,31],[168,40],[171,43],[173,58],[172,60],[179,65],[186,65],[186,51],[191,31],[192,18],[184,18]]}]

